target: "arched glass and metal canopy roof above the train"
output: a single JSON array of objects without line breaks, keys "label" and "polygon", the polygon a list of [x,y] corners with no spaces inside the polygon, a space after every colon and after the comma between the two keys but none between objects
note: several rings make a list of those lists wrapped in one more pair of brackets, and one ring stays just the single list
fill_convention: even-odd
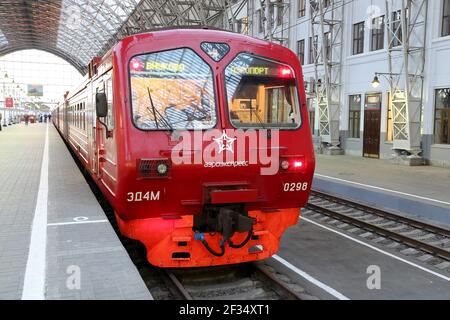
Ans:
[{"label": "arched glass and metal canopy roof above the train", "polygon": [[220,27],[228,5],[225,0],[0,1],[0,56],[44,50],[81,73],[127,35],[171,26]]}]

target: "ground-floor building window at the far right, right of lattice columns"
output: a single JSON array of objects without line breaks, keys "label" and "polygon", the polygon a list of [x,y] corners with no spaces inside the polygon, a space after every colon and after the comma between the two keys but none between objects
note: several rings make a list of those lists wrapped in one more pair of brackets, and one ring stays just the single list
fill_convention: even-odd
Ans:
[{"label": "ground-floor building window at the far right, right of lattice columns", "polygon": [[434,141],[450,144],[450,88],[436,90]]}]

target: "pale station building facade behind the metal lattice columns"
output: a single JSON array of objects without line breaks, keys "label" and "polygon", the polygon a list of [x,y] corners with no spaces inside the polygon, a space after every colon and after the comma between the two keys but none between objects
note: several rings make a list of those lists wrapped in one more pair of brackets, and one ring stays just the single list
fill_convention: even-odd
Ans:
[{"label": "pale station building facade behind the metal lattice columns", "polygon": [[[332,1],[335,0],[324,0],[324,8]],[[394,124],[389,101],[391,86],[388,77],[379,76],[376,88],[373,82],[376,73],[389,72],[389,52],[393,55],[392,68],[397,67],[398,72],[402,72],[404,56],[401,50],[397,53],[395,50],[389,50],[400,43],[395,43],[396,39],[391,37],[391,44],[388,44],[389,30],[385,16],[389,12],[391,26],[397,28],[396,35],[401,38],[402,2],[407,5],[409,1],[340,2],[339,7],[343,6],[338,119],[340,147],[348,155],[391,159],[394,156]],[[391,4],[389,11],[386,10],[388,2]],[[418,1],[412,2],[417,5]],[[427,9],[427,15],[419,26],[423,31],[423,62],[414,61],[417,59],[409,61],[410,70],[423,69],[420,75],[423,79],[419,127],[420,156],[426,164],[450,167],[450,0],[422,3]],[[237,5],[238,3],[235,4]],[[316,73],[323,72],[323,66],[317,66],[314,61],[314,47],[327,45],[327,39],[322,42],[317,39],[317,35],[316,40],[313,39],[311,5],[317,5],[317,1],[312,1],[311,4],[309,0],[248,0],[247,10],[242,10],[236,19],[236,31],[278,41],[297,53],[303,65],[312,134],[316,145],[319,146],[320,120],[314,88]],[[329,15],[331,17],[332,13]],[[417,21],[407,23],[408,27],[412,28],[412,24]],[[378,27],[371,27],[374,24]],[[326,31],[326,28],[325,26],[322,30]],[[414,39],[411,39],[410,48],[414,50]],[[319,50],[321,51],[317,49]],[[331,50],[334,49],[330,48]]]}]

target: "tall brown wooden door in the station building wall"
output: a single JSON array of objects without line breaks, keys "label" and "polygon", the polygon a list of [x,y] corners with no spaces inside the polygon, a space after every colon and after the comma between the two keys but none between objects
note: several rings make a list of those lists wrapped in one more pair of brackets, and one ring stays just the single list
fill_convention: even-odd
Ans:
[{"label": "tall brown wooden door in the station building wall", "polygon": [[363,156],[380,157],[381,93],[366,94]]}]

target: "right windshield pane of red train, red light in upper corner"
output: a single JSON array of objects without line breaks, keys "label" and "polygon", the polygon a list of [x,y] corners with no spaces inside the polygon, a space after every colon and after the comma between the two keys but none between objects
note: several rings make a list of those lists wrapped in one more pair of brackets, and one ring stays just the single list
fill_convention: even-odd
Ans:
[{"label": "right windshield pane of red train, red light in upper corner", "polygon": [[300,126],[291,67],[241,53],[225,69],[225,83],[233,126],[280,129]]}]

